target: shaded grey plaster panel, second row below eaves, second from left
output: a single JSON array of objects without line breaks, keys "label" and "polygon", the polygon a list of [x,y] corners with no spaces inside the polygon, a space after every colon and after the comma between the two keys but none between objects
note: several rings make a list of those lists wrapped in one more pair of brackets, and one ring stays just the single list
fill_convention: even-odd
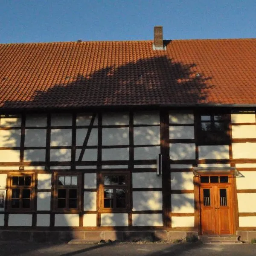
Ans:
[{"label": "shaded grey plaster panel, second row below eaves, second from left", "polygon": [[25,130],[25,147],[45,147],[46,146],[46,129],[26,129]]}]

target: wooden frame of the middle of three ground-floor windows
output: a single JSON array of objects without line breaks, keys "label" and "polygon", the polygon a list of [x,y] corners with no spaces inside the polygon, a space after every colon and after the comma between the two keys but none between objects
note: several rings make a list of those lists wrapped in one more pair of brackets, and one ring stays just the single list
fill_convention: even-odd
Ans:
[{"label": "wooden frame of the middle of three ground-floor windows", "polygon": [[[77,177],[77,185],[58,185],[58,177],[60,176],[76,176]],[[66,188],[66,189],[77,189],[77,208],[58,208],[58,189]],[[80,213],[81,212],[81,173],[79,172],[55,172],[54,173],[54,186],[53,186],[53,212],[67,212],[67,213]],[[66,205],[67,205],[68,197],[66,196]]]}]

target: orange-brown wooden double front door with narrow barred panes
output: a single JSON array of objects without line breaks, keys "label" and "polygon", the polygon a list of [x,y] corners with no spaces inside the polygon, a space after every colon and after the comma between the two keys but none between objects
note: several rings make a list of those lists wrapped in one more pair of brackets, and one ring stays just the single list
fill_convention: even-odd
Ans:
[{"label": "orange-brown wooden double front door with narrow barred panes", "polygon": [[[202,235],[231,234],[233,233],[231,184],[220,183],[220,176],[213,177],[215,178],[211,179],[209,176],[209,183],[200,184],[201,233]],[[214,182],[210,183],[211,180]]]}]

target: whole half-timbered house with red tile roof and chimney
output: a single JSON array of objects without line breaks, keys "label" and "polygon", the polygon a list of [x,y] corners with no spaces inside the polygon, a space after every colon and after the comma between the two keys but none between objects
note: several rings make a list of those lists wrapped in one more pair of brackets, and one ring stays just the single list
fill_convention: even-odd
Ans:
[{"label": "whole half-timbered house with red tile roof and chimney", "polygon": [[256,39],[0,44],[2,239],[256,237]]}]

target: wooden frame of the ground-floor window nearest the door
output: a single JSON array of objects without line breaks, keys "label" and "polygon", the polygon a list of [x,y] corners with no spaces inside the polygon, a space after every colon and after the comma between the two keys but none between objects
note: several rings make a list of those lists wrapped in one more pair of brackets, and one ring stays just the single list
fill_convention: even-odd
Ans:
[{"label": "wooden frame of the ground-floor window nearest the door", "polygon": [[[105,176],[125,176],[126,185],[105,185],[104,184],[104,177]],[[102,172],[100,173],[100,211],[101,212],[130,212],[131,211],[131,178],[130,178],[130,172],[126,171],[112,171],[112,172]],[[126,193],[126,207],[125,208],[104,208],[104,189],[119,189],[119,188],[125,188],[127,190]],[[115,198],[116,199],[116,198]]]}]

